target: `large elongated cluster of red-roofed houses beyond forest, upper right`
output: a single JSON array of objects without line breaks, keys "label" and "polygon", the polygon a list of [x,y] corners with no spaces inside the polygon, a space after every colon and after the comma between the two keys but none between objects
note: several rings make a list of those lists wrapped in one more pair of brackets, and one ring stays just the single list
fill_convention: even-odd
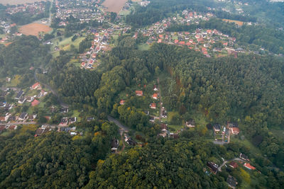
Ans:
[{"label": "large elongated cluster of red-roofed houses beyond forest, upper right", "polygon": [[[149,37],[148,44],[163,42],[170,45],[185,46],[192,50],[200,51],[207,57],[211,57],[214,53],[217,53],[218,56],[223,56],[222,53],[236,55],[236,52],[244,52],[244,50],[238,51],[233,48],[236,38],[231,38],[229,35],[225,35],[216,29],[197,28],[192,33],[166,31],[173,24],[198,24],[200,21],[208,21],[213,16],[212,13],[197,13],[185,10],[182,11],[182,16],[178,14],[177,16],[165,18],[163,21],[157,22],[148,28],[139,29],[137,32],[141,32],[144,36]],[[214,47],[213,45],[216,42],[222,44],[222,47]],[[226,49],[227,47],[229,49]]]}]

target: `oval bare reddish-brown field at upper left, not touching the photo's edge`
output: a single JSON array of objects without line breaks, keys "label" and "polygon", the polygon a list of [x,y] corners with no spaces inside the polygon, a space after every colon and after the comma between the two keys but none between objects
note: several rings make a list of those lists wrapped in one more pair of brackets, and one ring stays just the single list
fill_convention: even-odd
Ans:
[{"label": "oval bare reddish-brown field at upper left, not touching the photo's edge", "polygon": [[38,36],[38,33],[48,33],[52,30],[48,25],[43,25],[40,23],[30,23],[27,25],[23,25],[19,31],[25,35],[35,35]]}]

